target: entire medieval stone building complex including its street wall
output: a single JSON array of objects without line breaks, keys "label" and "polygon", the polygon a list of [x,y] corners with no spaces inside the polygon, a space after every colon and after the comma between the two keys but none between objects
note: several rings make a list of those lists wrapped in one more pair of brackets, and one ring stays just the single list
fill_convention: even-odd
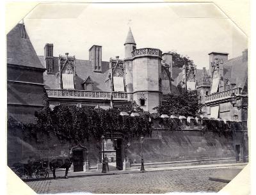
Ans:
[{"label": "entire medieval stone building complex including its street wall", "polygon": [[[51,109],[60,104],[108,109],[135,101],[150,113],[156,112],[154,107],[161,105],[168,93],[198,90],[201,102],[205,104],[202,109],[204,117],[246,123],[247,110],[243,105],[247,103],[248,93],[247,51],[233,59],[228,59],[226,53],[211,52],[209,70],[198,70],[192,64],[179,68],[173,64],[172,52],[163,53],[156,48],[138,49],[131,29],[124,42],[124,59],[116,56],[102,61],[100,45],[92,45],[88,60],[76,59],[74,54],[68,53],[72,51],[53,56],[53,49],[54,45],[47,43],[44,56],[37,56],[24,24],[18,24],[8,33],[8,116],[17,121],[35,122],[35,111],[43,107],[44,90]],[[234,106],[230,103],[233,93],[237,97]],[[205,158],[239,162],[248,158],[248,137],[244,137],[243,132],[230,139],[214,132],[210,137],[204,137],[199,130],[202,123],[195,127],[184,116],[181,121],[185,128],[182,132],[175,131],[170,136],[169,131],[162,129],[146,138],[145,159],[148,162]],[[51,140],[39,135],[36,141],[28,141],[22,139],[21,132],[19,134],[8,131],[8,164],[26,160],[30,155],[52,159],[68,157],[70,153],[78,159],[72,171],[88,171],[100,164],[99,143],[93,139],[80,144],[65,143],[52,134]],[[191,145],[195,148],[193,152]],[[241,153],[240,145],[243,148]],[[139,146],[138,140],[131,143],[127,152],[130,159],[140,159]],[[199,150],[198,146],[205,149]],[[104,145],[111,159],[119,158],[116,166],[119,165],[120,169],[124,162],[123,147],[122,139],[116,142],[118,150],[114,150],[109,139]],[[170,148],[176,149],[170,151]]]}]

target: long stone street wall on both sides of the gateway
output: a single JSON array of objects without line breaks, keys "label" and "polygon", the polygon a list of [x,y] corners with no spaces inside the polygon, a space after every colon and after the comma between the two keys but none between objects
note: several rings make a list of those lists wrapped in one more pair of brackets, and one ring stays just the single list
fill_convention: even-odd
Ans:
[{"label": "long stone street wall on both sides of the gateway", "polygon": [[[220,132],[202,130],[199,124],[200,120],[196,123],[193,118],[187,120],[184,117],[179,118],[171,118],[171,120],[176,120],[182,130],[174,129],[172,131],[166,130],[163,126],[163,119],[153,120],[154,130],[150,136],[145,137],[143,143],[143,157],[146,163],[214,159],[229,159],[229,162],[248,161],[246,127],[240,126],[242,129],[237,129],[238,127],[234,126],[237,132],[224,136]],[[226,123],[230,123],[230,121],[226,121]],[[87,159],[91,168],[95,167],[97,160],[100,159],[101,144],[97,143],[93,137],[83,143],[72,143],[65,139],[60,141],[54,134],[51,134],[50,137],[42,133],[37,134],[36,137],[29,137],[28,131],[9,129],[7,137],[8,165],[15,162],[26,163],[29,157],[45,160],[68,158],[71,148],[78,144],[88,150]],[[140,139],[129,140],[129,142],[131,146],[127,148],[127,158],[132,162],[135,159],[139,163],[141,159]],[[237,154],[237,148],[240,150],[239,154]],[[239,160],[236,159],[237,155],[239,155]],[[86,160],[85,157],[84,160]]]}]

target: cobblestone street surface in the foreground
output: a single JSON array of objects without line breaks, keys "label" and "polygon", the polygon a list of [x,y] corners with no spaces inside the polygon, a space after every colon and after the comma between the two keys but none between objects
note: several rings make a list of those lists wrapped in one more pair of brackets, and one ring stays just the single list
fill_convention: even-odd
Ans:
[{"label": "cobblestone street surface in the foreground", "polygon": [[[225,168],[227,169],[227,168]],[[106,176],[58,178],[26,182],[38,194],[60,192],[92,193],[166,193],[166,192],[218,192],[227,183],[209,180],[223,169],[189,169],[152,171]]]}]

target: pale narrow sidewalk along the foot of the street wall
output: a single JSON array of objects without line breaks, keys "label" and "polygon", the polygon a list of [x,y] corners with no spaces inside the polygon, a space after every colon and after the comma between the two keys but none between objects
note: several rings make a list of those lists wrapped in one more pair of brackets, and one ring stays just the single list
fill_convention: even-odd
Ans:
[{"label": "pale narrow sidewalk along the foot of the street wall", "polygon": [[[74,177],[84,177],[84,176],[104,176],[104,175],[120,175],[120,174],[129,174],[129,173],[145,173],[152,171],[171,171],[171,170],[188,170],[188,169],[218,169],[218,168],[233,168],[233,169],[243,169],[247,163],[235,163],[235,164],[207,164],[207,165],[195,165],[195,166],[179,166],[179,167],[165,167],[165,168],[147,168],[145,166],[145,171],[140,171],[140,169],[132,169],[132,170],[121,170],[121,171],[108,171],[107,173],[101,173],[101,171],[94,172],[72,172],[68,173],[69,178]],[[65,171],[59,169],[56,171],[57,177],[63,177],[65,175]],[[52,179],[52,173],[50,171],[49,179]],[[27,181],[38,180],[35,178],[28,179]]]}]

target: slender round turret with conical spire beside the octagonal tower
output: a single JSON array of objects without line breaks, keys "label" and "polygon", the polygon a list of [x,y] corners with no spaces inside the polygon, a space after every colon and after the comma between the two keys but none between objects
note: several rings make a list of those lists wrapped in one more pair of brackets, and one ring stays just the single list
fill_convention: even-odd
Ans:
[{"label": "slender round turret with conical spire beside the octagonal tower", "polygon": [[136,43],[132,36],[131,28],[124,43],[125,47],[125,84],[127,91],[127,98],[129,101],[133,100],[133,84],[132,84],[132,51],[136,49]]}]

